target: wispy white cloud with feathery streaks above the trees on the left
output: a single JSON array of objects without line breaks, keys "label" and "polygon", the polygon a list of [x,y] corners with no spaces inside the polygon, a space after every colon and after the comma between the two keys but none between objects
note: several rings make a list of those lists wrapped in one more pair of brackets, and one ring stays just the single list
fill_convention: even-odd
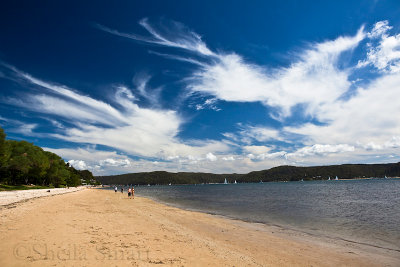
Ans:
[{"label": "wispy white cloud with feathery streaks above the trees on the left", "polygon": [[[74,127],[60,128],[50,136],[74,143],[104,145],[133,156],[165,159],[174,155],[204,156],[229,147],[215,140],[179,140],[177,135],[185,121],[174,110],[159,107],[142,108],[135,103],[132,91],[124,86],[114,88],[112,101],[117,109],[104,101],[80,94],[63,85],[39,80],[15,67],[13,74],[30,86],[50,91],[46,94],[27,94],[24,99],[8,99],[8,104],[37,113],[57,116]],[[146,92],[148,77],[138,79],[140,95]],[[30,128],[32,129],[32,128]],[[73,159],[79,160],[79,159]],[[107,161],[103,161],[107,163]]]}]

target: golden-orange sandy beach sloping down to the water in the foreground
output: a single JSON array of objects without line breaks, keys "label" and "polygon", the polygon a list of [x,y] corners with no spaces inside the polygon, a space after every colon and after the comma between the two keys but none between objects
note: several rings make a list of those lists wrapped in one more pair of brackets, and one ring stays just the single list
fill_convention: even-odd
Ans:
[{"label": "golden-orange sandy beach sloping down to the water in the foreground", "polygon": [[0,206],[0,266],[399,266],[400,253],[85,189]]}]

